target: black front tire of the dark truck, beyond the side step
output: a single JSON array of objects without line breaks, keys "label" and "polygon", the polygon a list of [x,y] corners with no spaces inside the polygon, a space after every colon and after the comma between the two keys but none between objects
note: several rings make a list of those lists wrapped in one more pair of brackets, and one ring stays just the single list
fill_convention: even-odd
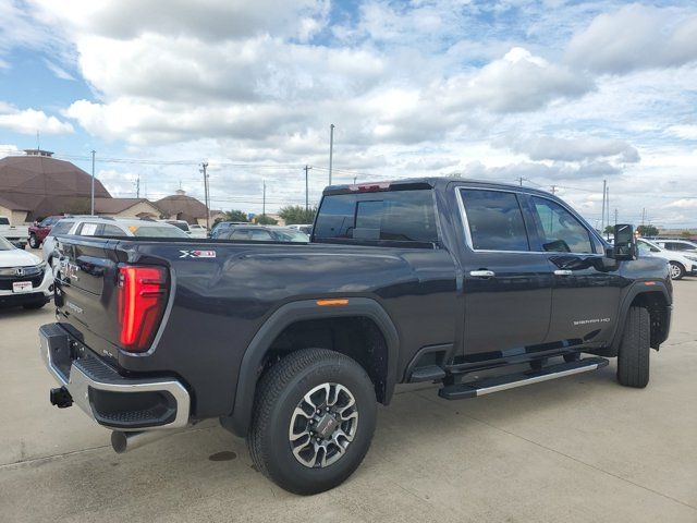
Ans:
[{"label": "black front tire of the dark truck, beyond the side step", "polygon": [[629,307],[617,351],[617,381],[643,389],[649,382],[651,318],[644,307]]}]

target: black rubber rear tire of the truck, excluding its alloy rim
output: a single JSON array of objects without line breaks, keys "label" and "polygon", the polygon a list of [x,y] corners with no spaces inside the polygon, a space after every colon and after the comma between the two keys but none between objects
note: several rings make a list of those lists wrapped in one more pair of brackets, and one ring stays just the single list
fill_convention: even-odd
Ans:
[{"label": "black rubber rear tire of the truck, excluding its alloy rim", "polygon": [[[353,394],[356,431],[334,463],[309,467],[293,454],[289,428],[305,394],[327,382]],[[375,387],[358,363],[325,349],[303,349],[279,361],[259,381],[247,448],[256,467],[280,487],[299,495],[318,494],[340,485],[358,467],[370,447],[376,416]]]}]

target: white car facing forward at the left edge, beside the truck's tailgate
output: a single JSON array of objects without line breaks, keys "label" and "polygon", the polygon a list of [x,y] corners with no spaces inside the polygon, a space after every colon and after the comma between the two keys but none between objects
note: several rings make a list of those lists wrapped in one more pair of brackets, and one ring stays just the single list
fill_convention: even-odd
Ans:
[{"label": "white car facing forward at the left edge, beside the truck's tailgate", "polygon": [[0,238],[0,305],[41,308],[53,295],[53,273],[37,255]]}]

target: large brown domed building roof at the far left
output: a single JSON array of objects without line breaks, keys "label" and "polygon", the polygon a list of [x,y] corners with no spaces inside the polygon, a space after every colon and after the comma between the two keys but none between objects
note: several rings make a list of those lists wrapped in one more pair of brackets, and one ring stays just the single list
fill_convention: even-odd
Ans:
[{"label": "large brown domed building roof at the far left", "polygon": [[[90,185],[88,173],[48,154],[0,159],[0,194],[13,210],[28,210],[27,219],[85,211]],[[95,180],[95,197],[111,197],[99,180]]]}]

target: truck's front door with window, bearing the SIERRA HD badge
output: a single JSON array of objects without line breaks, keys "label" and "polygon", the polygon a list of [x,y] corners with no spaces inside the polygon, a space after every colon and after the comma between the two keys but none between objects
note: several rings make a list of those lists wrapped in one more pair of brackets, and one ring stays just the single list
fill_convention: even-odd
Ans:
[{"label": "truck's front door with window, bearing the SIERRA HD badge", "polygon": [[530,195],[538,246],[553,272],[552,316],[547,342],[579,344],[609,337],[616,321],[622,278],[603,260],[590,228],[558,200]]}]

